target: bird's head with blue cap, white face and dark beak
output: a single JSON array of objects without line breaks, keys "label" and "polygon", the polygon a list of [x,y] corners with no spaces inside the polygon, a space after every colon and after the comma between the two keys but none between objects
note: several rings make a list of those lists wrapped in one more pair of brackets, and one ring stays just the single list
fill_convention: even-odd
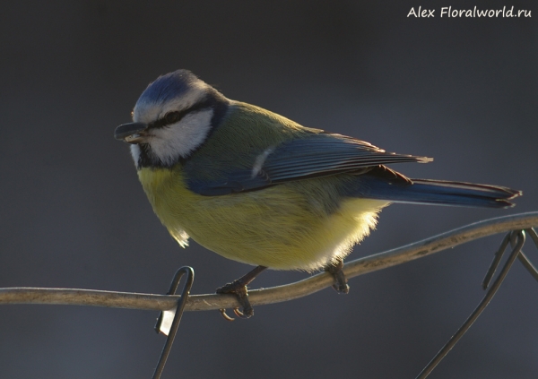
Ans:
[{"label": "bird's head with blue cap, white face and dark beak", "polygon": [[132,144],[138,168],[171,167],[204,143],[228,103],[187,70],[167,73],[143,91],[133,122],[117,126],[114,136]]}]

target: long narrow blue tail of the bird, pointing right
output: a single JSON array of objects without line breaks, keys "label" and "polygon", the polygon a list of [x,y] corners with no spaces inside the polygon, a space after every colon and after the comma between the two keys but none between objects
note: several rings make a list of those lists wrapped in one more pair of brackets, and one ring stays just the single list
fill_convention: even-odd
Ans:
[{"label": "long narrow blue tail of the bird, pointing right", "polygon": [[355,195],[390,202],[416,202],[437,205],[508,208],[509,200],[521,195],[499,185],[475,185],[444,180],[407,179],[395,171],[383,175],[370,173],[360,176],[360,190]]}]

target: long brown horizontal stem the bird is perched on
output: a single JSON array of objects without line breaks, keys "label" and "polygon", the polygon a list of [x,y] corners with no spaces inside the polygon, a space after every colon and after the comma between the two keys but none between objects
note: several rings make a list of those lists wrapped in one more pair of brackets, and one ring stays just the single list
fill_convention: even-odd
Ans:
[{"label": "long brown horizontal stem the bird is perched on", "polygon": [[[538,211],[520,213],[496,219],[484,220],[457,228],[411,245],[405,245],[384,253],[369,255],[345,264],[347,278],[382,270],[396,264],[406,263],[449,247],[461,245],[477,238],[487,237],[510,230],[538,226]],[[248,291],[253,306],[273,304],[305,297],[333,285],[333,277],[322,272],[305,280],[270,289]],[[110,306],[117,308],[167,310],[178,304],[178,296],[150,295],[129,292],[99,291],[91,289],[0,289],[2,304],[53,304],[73,306]],[[239,306],[232,295],[191,295],[186,311],[208,311]]]}]

